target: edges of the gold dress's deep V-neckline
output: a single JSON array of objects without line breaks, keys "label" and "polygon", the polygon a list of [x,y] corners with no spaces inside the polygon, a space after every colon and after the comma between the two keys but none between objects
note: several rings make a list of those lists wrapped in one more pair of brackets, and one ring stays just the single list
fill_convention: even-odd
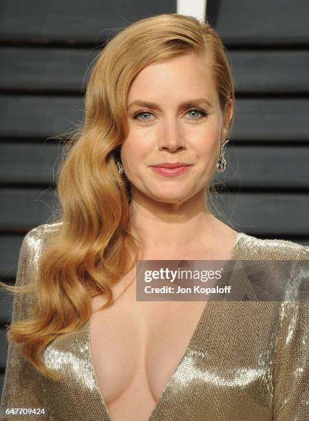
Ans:
[{"label": "edges of the gold dress's deep V-neckline", "polygon": [[[221,279],[224,279],[226,272],[228,272],[228,266],[231,263],[231,261],[235,261],[235,259],[237,258],[237,246],[238,246],[238,243],[239,243],[239,239],[240,239],[240,237],[242,237],[242,235],[245,235],[245,234],[242,233],[242,232],[238,232],[237,235],[235,236],[235,241],[233,243],[233,247],[231,249],[230,256],[228,257],[228,259],[226,259],[226,264],[225,264],[224,269],[222,270],[222,273],[221,273],[222,274]],[[149,415],[149,418],[147,418],[147,420],[145,420],[145,421],[155,421],[156,420],[156,418],[153,418],[153,417],[155,417],[156,411],[158,411],[158,409],[160,409],[160,406],[162,406],[163,401],[164,401],[164,396],[165,396],[165,393],[167,393],[167,389],[169,388],[169,385],[171,385],[171,383],[173,382],[173,380],[177,376],[183,361],[186,358],[189,357],[189,354],[191,352],[194,352],[194,349],[193,349],[192,345],[195,342],[195,338],[199,334],[199,330],[202,327],[202,324],[204,323],[204,321],[206,319],[206,315],[210,311],[210,309],[211,309],[211,306],[209,306],[209,301],[207,301],[206,304],[203,307],[202,315],[200,316],[198,324],[195,327],[195,330],[194,330],[194,332],[191,336],[191,339],[189,341],[189,345],[187,346],[187,349],[184,352],[184,355],[180,359],[177,367],[175,368],[175,371],[173,371],[173,374],[169,378],[169,381],[167,382],[167,385],[164,386],[164,389],[160,393],[160,396],[158,398],[158,402],[156,403],[156,406],[151,411],[151,414]],[[100,382],[98,381],[98,377],[96,376],[96,369],[94,368],[94,361],[92,359],[92,349],[91,349],[91,343],[90,343],[90,329],[89,329],[90,319],[91,318],[89,318],[88,321],[85,323],[90,369],[92,371],[92,376],[94,378],[94,383],[96,385],[96,389],[98,390],[98,394],[100,396],[100,404],[102,405],[103,410],[105,411],[105,415],[107,416],[106,421],[114,421],[113,418],[111,418],[111,414],[109,413],[109,409],[108,409],[107,404],[105,402],[105,399],[103,397],[103,393],[100,389]]]}]

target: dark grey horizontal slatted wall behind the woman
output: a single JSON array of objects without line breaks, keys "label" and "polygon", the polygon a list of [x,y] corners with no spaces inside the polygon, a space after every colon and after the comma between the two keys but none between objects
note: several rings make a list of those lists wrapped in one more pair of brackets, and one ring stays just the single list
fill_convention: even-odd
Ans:
[{"label": "dark grey horizontal slatted wall behind the woman", "polygon": [[[0,0],[2,281],[14,285],[24,235],[52,222],[63,143],[50,138],[83,121],[92,61],[118,30],[175,12],[207,16],[235,79],[227,169],[215,177],[220,219],[259,238],[309,245],[308,0]],[[11,312],[1,290],[0,392]]]}]

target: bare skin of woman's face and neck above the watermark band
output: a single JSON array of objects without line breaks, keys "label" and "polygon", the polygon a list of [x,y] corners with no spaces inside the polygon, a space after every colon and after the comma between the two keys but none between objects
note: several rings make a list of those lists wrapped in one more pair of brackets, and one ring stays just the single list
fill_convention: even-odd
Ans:
[{"label": "bare skin of woman's face and neck above the watermark band", "polygon": [[[209,104],[180,108],[196,98],[206,98]],[[160,109],[131,105],[136,100],[154,102]],[[211,254],[235,233],[211,215],[205,200],[232,116],[232,100],[222,115],[204,56],[187,54],[152,63],[134,79],[127,98],[129,136],[120,157],[131,183],[131,229],[144,245],[143,258],[178,259],[189,250]],[[193,166],[177,177],[151,169],[175,161]]]}]

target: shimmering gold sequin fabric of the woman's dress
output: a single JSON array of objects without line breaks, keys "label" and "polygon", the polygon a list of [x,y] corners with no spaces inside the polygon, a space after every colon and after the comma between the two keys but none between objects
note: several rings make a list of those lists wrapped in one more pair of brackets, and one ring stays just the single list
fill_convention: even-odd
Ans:
[{"label": "shimmering gold sequin fabric of the woman's dress", "polygon": [[[58,227],[43,224],[25,235],[17,285],[37,277],[39,255]],[[231,259],[292,259],[302,268],[304,263],[309,275],[309,247],[291,241],[238,233]],[[297,293],[297,280],[292,288]],[[12,320],[27,316],[31,299],[14,298]],[[41,376],[9,343],[1,407],[45,407],[48,414],[1,419],[112,421],[100,396],[88,333],[89,320],[45,348],[45,365],[61,374],[57,382]],[[239,420],[309,421],[308,300],[209,302],[145,421]]]}]

